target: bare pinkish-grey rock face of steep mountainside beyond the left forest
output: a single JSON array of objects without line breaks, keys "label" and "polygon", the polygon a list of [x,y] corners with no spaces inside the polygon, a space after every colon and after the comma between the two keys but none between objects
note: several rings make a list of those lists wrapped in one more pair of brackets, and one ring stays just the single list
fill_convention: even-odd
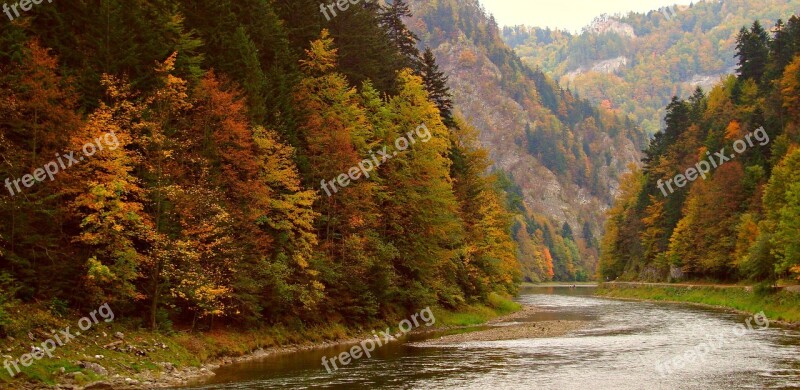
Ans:
[{"label": "bare pinkish-grey rock face of steep mountainside beyond the left forest", "polygon": [[[457,2],[455,7],[469,8],[470,3]],[[433,49],[440,67],[449,75],[456,111],[478,129],[479,139],[494,161],[493,168],[510,174],[522,189],[526,206],[534,214],[549,218],[559,228],[564,222],[573,230],[580,230],[588,224],[599,237],[604,211],[619,188],[621,173],[627,170],[629,163],[638,161],[641,145],[637,142],[641,140],[629,139],[633,133],[630,129],[616,131],[616,134],[598,131],[594,118],[578,118],[568,123],[574,118],[565,117],[569,115],[564,112],[570,110],[565,106],[578,105],[575,103],[577,99],[543,74],[522,65],[499,38],[487,45],[481,42],[482,38],[475,36],[474,30],[472,34],[465,32],[474,27],[437,25],[437,16],[432,14],[440,10],[432,10],[430,4],[423,0],[412,1],[415,19],[409,25],[422,37],[423,44]],[[480,25],[477,29],[489,30],[488,35],[499,37],[491,18],[483,25],[480,20],[475,23]],[[506,55],[505,62],[498,60],[499,51]],[[513,56],[512,64],[519,63],[518,69],[508,69],[509,56]],[[615,59],[605,68],[610,70],[626,63],[625,58]],[[522,77],[520,84],[535,87],[515,88],[510,80],[518,77]],[[549,90],[550,85],[555,92]],[[553,97],[553,93],[561,95]],[[547,99],[550,99],[550,104]],[[556,103],[552,103],[554,100]],[[603,156],[600,158],[602,161],[581,161],[579,158],[567,163],[566,170],[570,172],[553,169],[552,164],[548,166],[542,156],[535,155],[531,149],[546,152],[561,150],[563,145],[531,145],[530,139],[526,138],[526,128],[532,132],[558,134],[554,138],[573,143],[572,150],[557,152],[563,153],[567,159],[580,152],[574,148],[582,148],[585,156],[589,156],[583,159]],[[592,165],[586,170],[591,170],[593,177],[588,181],[593,184],[580,183],[575,177],[580,173],[573,174],[576,165],[582,164]],[[587,252],[581,255],[587,262],[587,271],[593,272],[594,255]]]}]

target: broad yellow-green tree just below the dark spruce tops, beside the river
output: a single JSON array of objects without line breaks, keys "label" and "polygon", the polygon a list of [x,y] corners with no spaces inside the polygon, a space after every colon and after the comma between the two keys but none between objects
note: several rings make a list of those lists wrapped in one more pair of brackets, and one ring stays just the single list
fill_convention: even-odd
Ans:
[{"label": "broad yellow-green tree just below the dark spruce tops, beside the river", "polygon": [[[381,168],[383,178],[391,183],[380,195],[383,232],[399,252],[395,268],[406,281],[404,304],[438,298],[457,305],[463,302],[463,293],[446,282],[455,273],[455,248],[463,239],[450,179],[449,132],[436,105],[427,100],[420,77],[404,70],[398,85],[398,95],[388,103],[392,126],[383,144],[396,150],[395,140],[412,131],[418,140],[405,151],[397,150],[397,156]],[[430,134],[428,142],[419,141],[423,129]]]}]

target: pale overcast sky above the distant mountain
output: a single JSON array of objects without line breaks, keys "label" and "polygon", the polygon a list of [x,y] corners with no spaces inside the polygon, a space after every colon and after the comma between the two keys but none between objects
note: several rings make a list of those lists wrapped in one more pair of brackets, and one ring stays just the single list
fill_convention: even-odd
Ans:
[{"label": "pale overcast sky above the distant mountain", "polygon": [[524,24],[580,31],[601,14],[645,12],[689,0],[481,0],[500,26]]}]

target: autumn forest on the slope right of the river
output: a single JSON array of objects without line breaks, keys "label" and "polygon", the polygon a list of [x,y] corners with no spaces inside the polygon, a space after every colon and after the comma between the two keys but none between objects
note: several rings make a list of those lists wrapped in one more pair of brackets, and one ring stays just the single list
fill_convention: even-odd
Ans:
[{"label": "autumn forest on the slope right of the river", "polygon": [[[623,180],[602,240],[600,276],[773,285],[800,276],[800,18],[758,21],[736,38],[736,75],[673,98],[643,166]],[[708,152],[756,144],[675,193],[657,188]],[[737,149],[737,152],[739,150]]]}]

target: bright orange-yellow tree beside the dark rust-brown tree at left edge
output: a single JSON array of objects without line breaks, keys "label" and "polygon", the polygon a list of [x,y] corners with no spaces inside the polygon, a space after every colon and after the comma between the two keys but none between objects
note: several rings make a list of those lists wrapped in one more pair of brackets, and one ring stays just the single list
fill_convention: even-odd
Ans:
[{"label": "bright orange-yellow tree beside the dark rust-brown tree at left edge", "polygon": [[73,168],[78,186],[68,193],[69,207],[80,221],[75,241],[88,250],[85,280],[92,301],[127,302],[144,298],[135,282],[152,261],[157,231],[145,210],[147,191],[133,175],[140,159],[130,145],[141,111],[128,84],[110,76],[103,82],[113,103],[100,104],[71,146],[80,150],[87,140],[114,139],[116,147]]}]

